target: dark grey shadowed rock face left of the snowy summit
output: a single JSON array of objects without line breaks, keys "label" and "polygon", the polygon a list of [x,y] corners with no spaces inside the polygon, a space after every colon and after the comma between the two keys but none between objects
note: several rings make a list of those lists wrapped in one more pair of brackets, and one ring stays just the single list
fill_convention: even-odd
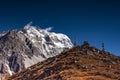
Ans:
[{"label": "dark grey shadowed rock face left of the snowy summit", "polygon": [[31,50],[26,46],[25,39],[24,35],[16,31],[9,31],[0,38],[0,59],[4,66],[9,65],[11,71],[18,72],[25,68],[22,53],[31,54]]}]

